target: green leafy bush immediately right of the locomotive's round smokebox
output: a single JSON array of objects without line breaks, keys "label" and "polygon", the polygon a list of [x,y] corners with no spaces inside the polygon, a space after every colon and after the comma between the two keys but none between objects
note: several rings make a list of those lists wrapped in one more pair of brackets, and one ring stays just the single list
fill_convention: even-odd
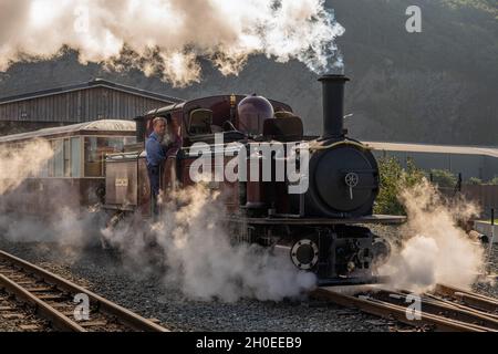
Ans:
[{"label": "green leafy bush immediately right of the locomotive's round smokebox", "polygon": [[412,159],[408,159],[406,169],[394,157],[378,160],[381,177],[381,191],[375,202],[375,214],[406,215],[403,205],[398,200],[400,192],[419,184],[425,175],[418,169]]}]

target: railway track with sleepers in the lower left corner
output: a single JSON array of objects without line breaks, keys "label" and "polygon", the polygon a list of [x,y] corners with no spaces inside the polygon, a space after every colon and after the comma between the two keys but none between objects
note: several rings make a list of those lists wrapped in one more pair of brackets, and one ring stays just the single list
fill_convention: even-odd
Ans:
[{"label": "railway track with sleepers in the lower left corner", "polygon": [[[27,308],[31,312],[34,310],[37,320],[30,319]],[[3,251],[0,251],[0,317],[21,321],[20,330],[48,325],[64,332],[168,332],[151,320]]]}]

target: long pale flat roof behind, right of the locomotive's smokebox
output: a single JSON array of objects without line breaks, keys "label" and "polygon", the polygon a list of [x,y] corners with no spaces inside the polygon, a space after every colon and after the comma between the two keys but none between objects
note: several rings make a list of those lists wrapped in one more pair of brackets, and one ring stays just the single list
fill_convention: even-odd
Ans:
[{"label": "long pale flat roof behind, right of the locomotive's smokebox", "polygon": [[364,142],[375,150],[480,155],[498,158],[498,147]]}]

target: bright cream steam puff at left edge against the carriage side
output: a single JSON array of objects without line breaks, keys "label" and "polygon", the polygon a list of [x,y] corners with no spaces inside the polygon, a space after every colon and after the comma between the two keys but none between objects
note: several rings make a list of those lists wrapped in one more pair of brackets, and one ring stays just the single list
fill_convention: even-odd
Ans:
[{"label": "bright cream steam puff at left edge against the carriage side", "polygon": [[39,174],[52,155],[52,147],[45,140],[33,140],[20,147],[0,146],[0,197]]}]

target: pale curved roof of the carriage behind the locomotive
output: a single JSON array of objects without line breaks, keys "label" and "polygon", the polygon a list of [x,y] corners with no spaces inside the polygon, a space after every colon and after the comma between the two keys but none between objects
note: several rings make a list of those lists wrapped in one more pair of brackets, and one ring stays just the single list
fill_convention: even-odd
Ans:
[{"label": "pale curved roof of the carriage behind the locomotive", "polygon": [[12,143],[17,140],[32,139],[37,137],[46,137],[60,134],[70,134],[76,132],[135,132],[136,124],[133,121],[104,119],[85,122],[80,124],[72,124],[65,126],[58,126],[53,128],[45,128],[34,132],[7,135],[0,137],[1,143]]}]

